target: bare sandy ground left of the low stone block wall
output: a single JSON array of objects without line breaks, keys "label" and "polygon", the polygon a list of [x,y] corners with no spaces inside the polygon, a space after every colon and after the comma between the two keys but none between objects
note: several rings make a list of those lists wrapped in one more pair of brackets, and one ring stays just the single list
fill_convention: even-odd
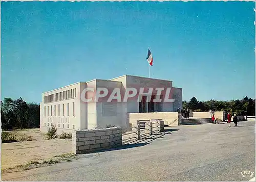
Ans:
[{"label": "bare sandy ground left of the low stone block wall", "polygon": [[[37,128],[15,131],[15,135],[24,134],[32,136],[36,141],[1,144],[1,169],[3,172],[13,172],[10,169],[17,168],[29,169],[33,165],[35,167],[36,165],[47,165],[47,162],[44,163],[44,161],[50,159],[65,160],[63,154],[72,152],[72,139],[46,140],[45,135],[41,134]],[[56,157],[57,155],[58,157]]]}]

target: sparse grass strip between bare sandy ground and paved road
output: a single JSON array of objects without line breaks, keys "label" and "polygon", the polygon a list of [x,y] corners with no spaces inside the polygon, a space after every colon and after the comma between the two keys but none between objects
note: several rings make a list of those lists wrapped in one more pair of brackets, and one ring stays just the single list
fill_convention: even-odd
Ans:
[{"label": "sparse grass strip between bare sandy ground and paved road", "polygon": [[61,155],[56,155],[51,159],[44,160],[44,161],[30,161],[27,164],[23,165],[17,165],[13,168],[8,168],[2,170],[3,173],[11,173],[11,172],[17,172],[17,171],[25,171],[33,168],[39,168],[39,167],[44,167],[48,165],[53,165],[60,163],[61,161],[67,161],[71,162],[71,159],[78,159],[76,158],[76,154],[74,153],[63,153]]}]

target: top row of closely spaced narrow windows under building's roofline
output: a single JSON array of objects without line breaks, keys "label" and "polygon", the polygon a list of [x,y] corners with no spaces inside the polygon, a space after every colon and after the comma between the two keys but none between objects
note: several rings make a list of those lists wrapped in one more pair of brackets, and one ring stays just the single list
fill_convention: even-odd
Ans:
[{"label": "top row of closely spaced narrow windows under building's roofline", "polygon": [[70,89],[59,93],[44,96],[44,103],[57,102],[71,98],[76,98],[76,89]]}]

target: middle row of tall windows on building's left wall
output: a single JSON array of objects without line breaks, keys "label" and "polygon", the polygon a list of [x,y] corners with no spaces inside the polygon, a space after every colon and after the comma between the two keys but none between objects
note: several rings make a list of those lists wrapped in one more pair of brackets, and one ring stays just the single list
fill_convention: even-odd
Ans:
[{"label": "middle row of tall windows on building's left wall", "polygon": [[[57,112],[56,112],[56,106],[58,107],[57,108]],[[62,116],[65,117],[65,103],[62,103],[62,108],[60,108],[60,105],[52,105],[50,106],[47,106],[47,109],[46,109],[46,106],[45,106],[45,112],[44,112],[44,115],[46,117],[46,113],[47,113],[47,117],[49,117],[49,114],[50,114],[50,117],[56,117],[56,115],[58,115],[58,117],[60,117],[60,111],[62,109]],[[69,103],[67,103],[67,116],[69,117]],[[72,115],[73,117],[75,117],[75,102],[72,102]]]}]

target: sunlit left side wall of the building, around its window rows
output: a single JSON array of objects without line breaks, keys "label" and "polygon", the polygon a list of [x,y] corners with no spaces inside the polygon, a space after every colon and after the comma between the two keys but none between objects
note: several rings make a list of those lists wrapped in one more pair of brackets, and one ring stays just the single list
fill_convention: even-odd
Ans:
[{"label": "sunlit left side wall of the building, around its window rows", "polygon": [[[56,125],[57,130],[59,131],[74,131],[81,127],[81,119],[80,119],[80,82],[76,84],[72,84],[66,87],[62,87],[59,89],[55,89],[53,91],[42,93],[41,95],[41,114],[40,114],[40,131],[47,132],[48,126]],[[63,91],[67,91],[70,89],[76,89],[75,98],[60,100],[60,101],[52,101],[52,102],[44,102],[44,97],[52,94],[57,94]],[[73,102],[74,102],[74,110],[75,115],[73,116]],[[68,116],[68,103],[69,103],[69,116]],[[64,115],[63,115],[63,105],[64,105]],[[56,108],[56,113],[54,112],[54,106]],[[59,111],[58,111],[59,106]],[[48,107],[49,107],[49,115],[48,115]],[[52,114],[51,114],[52,107]],[[45,113],[46,112],[46,113]],[[74,127],[74,128],[73,128]],[[59,132],[58,132],[59,133]]]}]

